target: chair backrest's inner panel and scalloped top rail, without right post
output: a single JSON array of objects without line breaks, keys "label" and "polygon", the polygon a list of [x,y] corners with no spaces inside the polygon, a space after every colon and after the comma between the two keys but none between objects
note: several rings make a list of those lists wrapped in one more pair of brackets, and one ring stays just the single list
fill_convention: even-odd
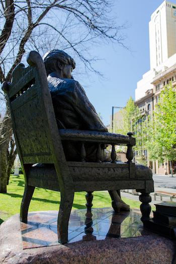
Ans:
[{"label": "chair backrest's inner panel and scalloped top rail, without right post", "polygon": [[19,64],[9,91],[13,127],[24,164],[53,162],[42,87],[37,76],[36,67]]}]

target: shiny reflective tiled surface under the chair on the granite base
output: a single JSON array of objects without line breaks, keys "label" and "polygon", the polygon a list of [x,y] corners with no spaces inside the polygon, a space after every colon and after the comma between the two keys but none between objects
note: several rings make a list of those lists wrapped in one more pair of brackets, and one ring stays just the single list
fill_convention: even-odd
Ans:
[{"label": "shiny reflective tiled surface under the chair on the granite base", "polygon": [[[28,214],[28,223],[21,222],[23,248],[58,245],[56,211]],[[111,208],[73,210],[68,226],[68,243],[134,237],[152,234],[143,229],[138,211],[114,213]]]}]

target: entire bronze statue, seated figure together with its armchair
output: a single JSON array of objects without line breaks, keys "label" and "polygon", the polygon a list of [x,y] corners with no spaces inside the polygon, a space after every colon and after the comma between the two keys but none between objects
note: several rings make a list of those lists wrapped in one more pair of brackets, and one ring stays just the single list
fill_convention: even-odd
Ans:
[{"label": "entire bronze statue, seated figure together with its armchair", "polygon": [[[35,187],[59,191],[58,241],[66,243],[75,192],[87,192],[90,211],[92,193],[107,190],[119,212],[129,210],[119,190],[136,189],[141,193],[145,224],[151,211],[152,172],[132,162],[132,133],[108,132],[82,86],[72,78],[75,62],[65,52],[50,51],[43,61],[38,52],[31,51],[27,61],[28,67],[17,65],[12,82],[3,84],[25,177],[21,221],[27,222]],[[108,144],[112,146],[111,161],[105,162],[102,152]],[[115,145],[127,146],[127,162],[116,162]]]}]

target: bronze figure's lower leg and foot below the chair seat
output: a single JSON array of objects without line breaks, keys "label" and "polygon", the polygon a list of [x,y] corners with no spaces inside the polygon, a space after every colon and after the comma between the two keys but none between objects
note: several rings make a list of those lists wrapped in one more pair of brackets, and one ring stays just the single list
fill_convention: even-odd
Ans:
[{"label": "bronze figure's lower leg and foot below the chair seat", "polygon": [[112,207],[114,209],[115,212],[120,212],[122,211],[129,211],[130,207],[129,205],[127,205],[125,202],[122,201],[122,199],[120,198],[120,190],[111,190],[108,191],[111,199],[112,199]]}]

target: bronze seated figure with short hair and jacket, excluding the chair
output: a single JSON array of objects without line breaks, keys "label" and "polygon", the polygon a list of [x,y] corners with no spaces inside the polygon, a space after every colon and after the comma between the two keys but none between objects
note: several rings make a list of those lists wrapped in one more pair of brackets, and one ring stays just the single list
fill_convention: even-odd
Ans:
[{"label": "bronze seated figure with short hair and jacket, excluding the chair", "polygon": [[[75,61],[61,50],[47,52],[43,60],[58,128],[108,132],[107,127],[87,98],[83,87],[71,75],[75,68]],[[63,142],[62,145],[66,160],[80,161],[80,143]],[[87,143],[84,146],[85,161],[97,161],[96,144]],[[106,146],[108,145],[101,145],[102,152]],[[104,156],[103,153],[102,156]],[[119,197],[120,191],[118,193],[117,191],[111,192],[116,193],[114,195],[118,199],[119,210],[130,210],[130,207]]]}]

